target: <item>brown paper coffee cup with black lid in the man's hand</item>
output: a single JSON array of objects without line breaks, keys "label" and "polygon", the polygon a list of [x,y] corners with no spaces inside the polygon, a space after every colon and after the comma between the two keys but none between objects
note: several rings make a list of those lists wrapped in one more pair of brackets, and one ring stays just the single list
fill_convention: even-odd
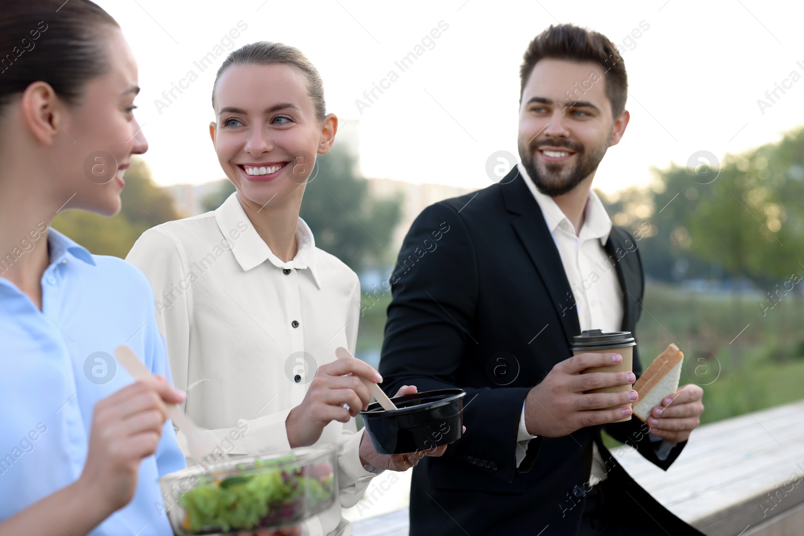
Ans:
[{"label": "brown paper coffee cup with black lid in the man's hand", "polygon": [[[580,374],[589,374],[590,372],[628,372],[634,370],[634,346],[637,342],[630,331],[615,331],[611,333],[603,333],[602,329],[589,329],[580,333],[572,338],[572,355],[585,354],[587,352],[595,352],[598,354],[620,354],[622,361],[617,365],[612,366],[596,366],[586,370],[581,370]],[[585,393],[619,393],[622,391],[630,391],[633,384],[621,385],[616,387],[601,387],[600,389],[592,389],[584,391]],[[632,403],[617,405],[613,407],[606,407],[603,409],[617,409],[620,407],[633,407]],[[633,413],[631,415],[634,415]],[[614,423],[622,423],[631,419],[631,415],[625,419],[612,421]]]}]

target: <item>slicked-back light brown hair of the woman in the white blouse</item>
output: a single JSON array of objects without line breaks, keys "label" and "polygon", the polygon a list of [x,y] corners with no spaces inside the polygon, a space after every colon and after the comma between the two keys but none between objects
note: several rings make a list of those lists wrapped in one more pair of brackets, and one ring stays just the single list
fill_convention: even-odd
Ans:
[{"label": "slicked-back light brown hair of the woman in the white blouse", "polygon": [[215,88],[218,86],[218,79],[229,67],[232,65],[270,65],[272,63],[285,63],[299,69],[307,78],[307,94],[313,100],[316,118],[320,120],[326,117],[324,83],[321,75],[318,74],[318,69],[296,47],[269,41],[248,43],[248,45],[229,53],[218,69],[218,74],[215,75],[215,84],[212,84],[212,108],[215,108]]}]

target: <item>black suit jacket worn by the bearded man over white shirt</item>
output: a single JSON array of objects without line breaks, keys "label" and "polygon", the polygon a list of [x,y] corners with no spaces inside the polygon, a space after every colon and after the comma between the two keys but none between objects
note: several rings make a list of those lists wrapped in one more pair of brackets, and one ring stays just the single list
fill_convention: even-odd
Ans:
[{"label": "black suit jacket worn by the bearded man over white shirt", "polygon": [[[410,534],[539,534],[544,527],[542,536],[576,534],[593,441],[610,481],[667,532],[699,534],[617,464],[601,442],[601,427],[531,440],[516,466],[525,397],[572,356],[570,340],[580,333],[559,252],[524,181],[515,168],[498,184],[426,208],[390,278],[393,300],[379,364],[384,389],[457,386],[468,393],[464,436],[413,470]],[[623,290],[622,329],[634,332],[644,288],[637,243],[614,227],[605,248]],[[663,469],[683,448],[660,461],[638,419],[605,429]]]}]

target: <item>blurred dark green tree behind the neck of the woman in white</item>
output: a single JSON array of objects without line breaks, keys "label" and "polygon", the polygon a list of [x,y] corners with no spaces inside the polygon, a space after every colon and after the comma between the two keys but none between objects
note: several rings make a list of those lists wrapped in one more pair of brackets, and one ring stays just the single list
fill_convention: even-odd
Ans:
[{"label": "blurred dark green tree behind the neck of the woman in white", "polygon": [[[401,200],[371,198],[355,158],[338,145],[318,155],[310,176],[300,215],[313,231],[315,245],[355,272],[393,264],[396,252],[389,251],[388,243],[399,223]],[[204,199],[203,207],[215,210],[233,191],[227,181]]]}]

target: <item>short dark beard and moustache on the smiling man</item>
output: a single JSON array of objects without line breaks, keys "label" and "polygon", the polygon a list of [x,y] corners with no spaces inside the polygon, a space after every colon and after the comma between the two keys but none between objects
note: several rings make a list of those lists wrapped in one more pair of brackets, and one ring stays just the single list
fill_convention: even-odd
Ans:
[{"label": "short dark beard and moustache on the smiling man", "polygon": [[[527,147],[523,146],[522,141],[519,141],[519,158],[522,159],[522,165],[525,166],[525,170],[531,176],[536,188],[542,194],[556,197],[572,191],[581,181],[589,177],[589,174],[597,170],[597,166],[605,156],[606,149],[609,148],[609,141],[611,141],[611,132],[603,143],[593,147],[589,153],[586,152],[584,145],[564,138],[541,139]],[[535,162],[536,150],[544,146],[566,147],[576,153],[575,163],[572,165],[545,162],[537,164]]]}]

